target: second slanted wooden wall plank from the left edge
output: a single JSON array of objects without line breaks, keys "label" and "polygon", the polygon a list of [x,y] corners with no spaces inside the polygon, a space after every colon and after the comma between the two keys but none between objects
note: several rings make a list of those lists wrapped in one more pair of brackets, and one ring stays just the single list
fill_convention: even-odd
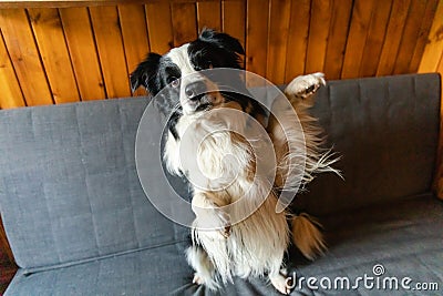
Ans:
[{"label": "second slanted wooden wall plank from the left edge", "polygon": [[0,27],[28,105],[52,104],[52,95],[25,11],[0,10]]}]

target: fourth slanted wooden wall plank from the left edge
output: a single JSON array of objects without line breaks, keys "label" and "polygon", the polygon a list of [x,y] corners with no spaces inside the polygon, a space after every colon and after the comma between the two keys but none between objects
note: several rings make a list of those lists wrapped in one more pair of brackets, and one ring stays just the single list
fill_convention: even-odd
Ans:
[{"label": "fourth slanted wooden wall plank from the left edge", "polygon": [[74,74],[83,101],[106,98],[86,8],[59,9]]}]

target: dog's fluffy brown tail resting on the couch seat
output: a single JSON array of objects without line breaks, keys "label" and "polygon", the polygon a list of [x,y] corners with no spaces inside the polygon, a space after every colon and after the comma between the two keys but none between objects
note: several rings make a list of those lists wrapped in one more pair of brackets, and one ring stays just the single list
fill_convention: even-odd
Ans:
[{"label": "dog's fluffy brown tail resting on the couch seat", "polygon": [[315,259],[327,249],[323,235],[319,227],[321,225],[306,213],[292,218],[292,241],[308,259]]}]

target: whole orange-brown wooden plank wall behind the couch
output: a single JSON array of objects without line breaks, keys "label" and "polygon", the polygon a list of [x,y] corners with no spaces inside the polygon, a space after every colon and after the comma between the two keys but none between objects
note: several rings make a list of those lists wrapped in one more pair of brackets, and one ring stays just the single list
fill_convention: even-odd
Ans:
[{"label": "whole orange-brown wooden plank wall behind the couch", "polygon": [[7,53],[0,75],[8,83],[0,86],[8,93],[0,108],[128,96],[128,74],[146,53],[166,53],[205,27],[237,38],[246,69],[277,84],[317,71],[327,79],[414,73],[430,59],[429,33],[442,1],[0,3]]}]

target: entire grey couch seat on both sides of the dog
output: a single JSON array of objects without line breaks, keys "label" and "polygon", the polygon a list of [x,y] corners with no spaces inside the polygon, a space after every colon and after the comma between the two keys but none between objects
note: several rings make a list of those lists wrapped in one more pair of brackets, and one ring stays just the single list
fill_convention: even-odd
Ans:
[{"label": "entire grey couch seat on both sides of the dog", "polygon": [[[393,211],[394,208],[394,211]],[[330,223],[328,223],[330,221]],[[374,277],[372,268],[382,264],[385,277],[410,277],[416,283],[437,283],[443,288],[443,203],[433,196],[371,207],[324,221],[329,252],[307,263],[290,254],[290,274],[296,273],[291,295],[436,295],[437,292],[399,289],[309,289],[300,278],[349,277],[351,287],[358,276]],[[19,273],[7,290],[18,295],[244,295],[278,296],[259,278],[235,278],[219,293],[192,285],[183,249],[174,245],[135,252],[54,271],[24,276]],[[374,277],[375,278],[375,277]],[[333,283],[333,282],[332,282]],[[375,282],[373,282],[375,283]],[[299,288],[299,286],[301,288]],[[319,285],[319,284],[317,284]],[[340,285],[340,284],[338,284]],[[333,286],[332,286],[333,287]],[[340,286],[339,286],[340,287]],[[382,286],[381,286],[382,287]],[[387,286],[390,287],[390,286]],[[436,294],[435,294],[436,293]]]}]

